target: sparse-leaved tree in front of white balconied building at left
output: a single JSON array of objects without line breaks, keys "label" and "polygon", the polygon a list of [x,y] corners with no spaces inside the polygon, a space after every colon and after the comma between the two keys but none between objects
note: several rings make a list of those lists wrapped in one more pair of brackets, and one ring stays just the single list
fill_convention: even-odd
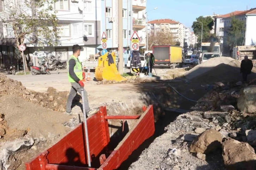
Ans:
[{"label": "sparse-leaved tree in front of white balconied building at left", "polygon": [[[53,4],[55,0],[5,0],[0,21],[8,35],[13,33],[15,46],[26,43],[37,46],[58,44],[60,29]],[[20,51],[22,55],[22,52]],[[27,59],[25,59],[25,71]]]}]

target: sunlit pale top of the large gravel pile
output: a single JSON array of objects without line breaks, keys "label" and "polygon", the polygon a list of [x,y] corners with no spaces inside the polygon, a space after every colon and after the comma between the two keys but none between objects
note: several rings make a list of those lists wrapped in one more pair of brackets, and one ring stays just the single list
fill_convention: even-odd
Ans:
[{"label": "sunlit pale top of the large gravel pile", "polygon": [[201,74],[213,69],[215,66],[218,66],[219,64],[228,64],[232,60],[234,60],[234,59],[232,59],[230,57],[211,58],[211,59],[207,60],[206,62],[195,66],[194,68],[189,70],[184,75],[186,76],[187,79],[193,79],[193,78],[200,76]]}]

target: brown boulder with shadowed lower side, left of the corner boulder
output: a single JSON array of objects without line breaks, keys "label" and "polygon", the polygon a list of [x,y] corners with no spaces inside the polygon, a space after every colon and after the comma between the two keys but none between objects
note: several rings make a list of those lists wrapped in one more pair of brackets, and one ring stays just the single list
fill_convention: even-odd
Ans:
[{"label": "brown boulder with shadowed lower side, left of the corner boulder", "polygon": [[210,129],[201,133],[189,147],[189,152],[210,153],[221,146],[222,137],[216,130]]}]

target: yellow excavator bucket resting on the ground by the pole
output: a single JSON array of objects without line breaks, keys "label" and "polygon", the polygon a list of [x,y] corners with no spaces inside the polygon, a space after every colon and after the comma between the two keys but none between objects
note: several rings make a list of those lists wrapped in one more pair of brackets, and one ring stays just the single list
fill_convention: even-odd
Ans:
[{"label": "yellow excavator bucket resting on the ground by the pole", "polygon": [[[112,58],[111,58],[112,57]],[[116,53],[107,52],[106,54],[99,57],[98,66],[95,69],[95,78],[98,81],[106,80],[116,80],[116,81],[126,81],[127,79],[122,77],[116,68]]]}]

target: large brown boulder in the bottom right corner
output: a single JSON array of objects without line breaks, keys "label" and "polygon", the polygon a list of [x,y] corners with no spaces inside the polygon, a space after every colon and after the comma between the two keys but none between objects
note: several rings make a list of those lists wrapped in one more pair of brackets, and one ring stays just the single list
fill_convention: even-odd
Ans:
[{"label": "large brown boulder in the bottom right corner", "polygon": [[245,142],[229,139],[222,144],[222,156],[228,170],[255,170],[256,154]]}]

